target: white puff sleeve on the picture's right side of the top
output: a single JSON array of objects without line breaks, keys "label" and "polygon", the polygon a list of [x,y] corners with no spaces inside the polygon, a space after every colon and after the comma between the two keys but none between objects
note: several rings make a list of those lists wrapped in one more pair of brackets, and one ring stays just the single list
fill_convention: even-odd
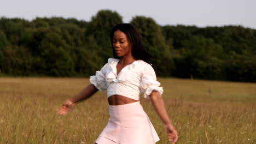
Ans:
[{"label": "white puff sleeve on the picture's right side of the top", "polygon": [[149,98],[152,91],[158,91],[160,95],[164,92],[160,82],[156,80],[155,71],[151,65],[145,64],[141,74],[141,91],[144,93],[144,98]]}]

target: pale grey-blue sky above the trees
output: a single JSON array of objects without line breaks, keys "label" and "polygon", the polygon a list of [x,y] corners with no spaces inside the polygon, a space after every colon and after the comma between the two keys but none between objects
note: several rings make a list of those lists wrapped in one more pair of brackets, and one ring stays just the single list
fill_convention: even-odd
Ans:
[{"label": "pale grey-blue sky above the trees", "polygon": [[151,17],[161,26],[240,25],[256,29],[256,0],[0,0],[0,17],[64,17],[91,21],[99,10],[116,11],[123,22]]}]

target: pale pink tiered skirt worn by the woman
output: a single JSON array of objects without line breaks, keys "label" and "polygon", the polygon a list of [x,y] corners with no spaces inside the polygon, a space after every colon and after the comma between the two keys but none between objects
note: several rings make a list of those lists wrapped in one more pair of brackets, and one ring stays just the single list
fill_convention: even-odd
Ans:
[{"label": "pale pink tiered skirt worn by the woman", "polygon": [[109,105],[109,121],[96,140],[98,144],[153,144],[159,141],[148,115],[139,101]]}]

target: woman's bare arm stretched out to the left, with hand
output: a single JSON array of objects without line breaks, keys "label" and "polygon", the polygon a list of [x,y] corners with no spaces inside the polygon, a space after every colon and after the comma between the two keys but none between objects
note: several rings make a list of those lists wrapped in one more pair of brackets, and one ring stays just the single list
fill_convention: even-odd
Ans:
[{"label": "woman's bare arm stretched out to the left, with hand", "polygon": [[60,115],[66,115],[69,111],[72,110],[74,104],[90,98],[97,91],[98,89],[92,84],[85,87],[78,95],[75,95],[73,98],[64,101],[57,113],[59,113]]}]

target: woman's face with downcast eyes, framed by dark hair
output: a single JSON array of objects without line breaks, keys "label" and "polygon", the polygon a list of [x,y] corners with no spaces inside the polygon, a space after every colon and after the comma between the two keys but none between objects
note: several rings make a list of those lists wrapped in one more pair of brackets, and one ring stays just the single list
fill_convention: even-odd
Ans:
[{"label": "woman's face with downcast eyes, framed by dark hair", "polygon": [[132,56],[130,40],[126,37],[126,34],[120,30],[114,32],[113,47],[118,57]]}]

